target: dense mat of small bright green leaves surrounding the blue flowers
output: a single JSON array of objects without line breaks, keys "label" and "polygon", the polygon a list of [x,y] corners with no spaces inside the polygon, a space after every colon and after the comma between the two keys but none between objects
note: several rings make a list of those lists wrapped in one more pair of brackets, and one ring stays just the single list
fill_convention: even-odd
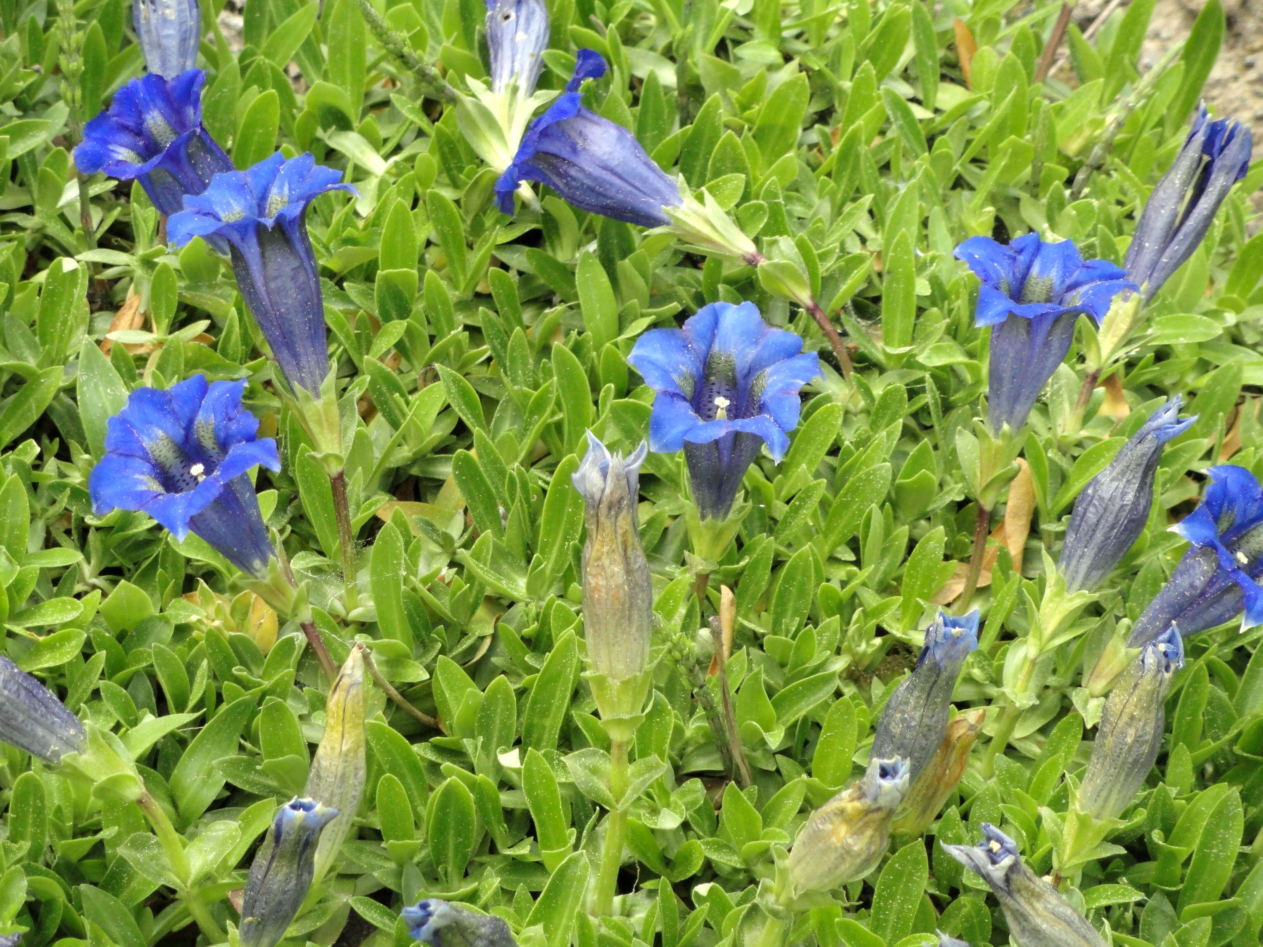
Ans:
[{"label": "dense mat of small bright green leaves surrounding the blue flowers", "polygon": [[[447,82],[485,76],[479,0],[375,5]],[[1033,230],[1122,263],[1218,54],[1218,0],[1144,81],[1152,0],[1090,40],[1071,25],[1067,62],[1042,82],[1060,4],[553,0],[541,87],[562,88],[577,49],[601,53],[611,72],[586,87],[589,106],[806,273],[849,343],[849,380],[811,314],[753,266],[556,196],[501,215],[498,174],[457,110],[426,97],[434,87],[355,0],[250,0],[240,52],[220,9],[202,10],[208,131],[237,168],[309,150],[359,189],[320,197],[307,217],[357,573],[344,587],[330,480],[273,389],[231,268],[201,240],[168,250],[139,186],[75,172],[83,124],[144,68],[130,5],[0,0],[3,650],[121,739],[192,866],[177,888],[136,806],[5,746],[0,926],[25,929],[27,947],[210,942],[206,931],[239,923],[234,893],[278,804],[304,793],[328,681],[298,624],[241,591],[196,535],[177,542],[140,513],[93,515],[88,497],[128,394],[202,372],[249,379],[246,405],[278,439],[282,472],[258,474],[263,513],[335,664],[365,643],[437,722],[368,686],[366,789],[293,942],[412,943],[398,914],[423,896],[499,914],[524,947],[758,942],[760,881],[811,811],[863,773],[884,701],[970,557],[988,331],[952,250]],[[866,880],[797,913],[788,943],[919,947],[936,929],[1009,942],[985,884],[941,845],[975,843],[990,822],[1052,871],[1104,703],[1089,678],[1187,548],[1167,527],[1196,504],[1206,467],[1231,458],[1263,476],[1263,236],[1248,227],[1260,182],[1255,165],[1080,431],[1092,342],[1081,323],[994,510],[980,646],[955,692],[957,708],[995,711],[969,769],[925,838],[897,836]],[[823,376],[803,389],[784,461],[763,455],[746,475],[753,511],[703,604],[686,561],[683,460],[644,462],[657,665],[616,803],[582,676],[571,475],[586,431],[624,453],[645,437],[653,391],[626,361],[635,338],[744,299],[818,350]],[[1140,540],[1095,600],[1042,626],[1075,496],[1175,394],[1199,419],[1166,448]],[[736,615],[722,678],[706,677],[721,586]],[[1007,655],[1033,628],[1043,653],[1014,683]],[[1115,944],[1258,943],[1260,636],[1234,620],[1186,641],[1146,787],[1099,845],[1058,862],[1067,899]],[[753,773],[744,789],[724,778],[695,696],[705,681],[722,705],[722,679]],[[988,753],[1005,708],[1019,715],[1012,737]],[[592,918],[585,886],[616,806],[621,898]],[[203,933],[191,903],[213,922]]]}]

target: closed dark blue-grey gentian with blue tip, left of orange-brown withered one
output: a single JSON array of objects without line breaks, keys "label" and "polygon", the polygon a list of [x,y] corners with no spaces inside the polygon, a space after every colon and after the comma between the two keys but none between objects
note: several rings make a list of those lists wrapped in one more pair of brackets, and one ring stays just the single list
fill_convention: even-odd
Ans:
[{"label": "closed dark blue-grey gentian with blue tip, left of orange-brown withered one", "polygon": [[938,612],[926,629],[917,665],[882,711],[870,755],[907,758],[913,783],[947,732],[956,678],[978,648],[978,609],[960,617]]}]

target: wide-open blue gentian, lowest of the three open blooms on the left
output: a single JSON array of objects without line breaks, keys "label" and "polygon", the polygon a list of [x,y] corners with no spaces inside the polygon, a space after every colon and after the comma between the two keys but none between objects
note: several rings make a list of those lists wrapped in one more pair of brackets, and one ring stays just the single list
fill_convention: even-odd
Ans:
[{"label": "wide-open blue gentian, lowest of the three open blooms on the left", "polygon": [[246,472],[280,470],[277,442],[256,441],[241,407],[245,381],[195,375],[165,391],[138,388],[110,418],[105,457],[88,477],[97,515],[148,513],[183,539],[196,533],[242,572],[263,578],[273,556]]}]

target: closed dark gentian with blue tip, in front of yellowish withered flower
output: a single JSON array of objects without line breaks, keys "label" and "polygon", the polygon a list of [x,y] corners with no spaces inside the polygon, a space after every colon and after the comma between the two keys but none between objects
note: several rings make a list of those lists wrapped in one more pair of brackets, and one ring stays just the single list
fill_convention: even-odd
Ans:
[{"label": "closed dark gentian with blue tip, in front of yellowish withered flower", "polygon": [[337,816],[314,799],[294,797],[277,813],[250,865],[241,899],[241,947],[273,947],[312,886],[316,840]]}]

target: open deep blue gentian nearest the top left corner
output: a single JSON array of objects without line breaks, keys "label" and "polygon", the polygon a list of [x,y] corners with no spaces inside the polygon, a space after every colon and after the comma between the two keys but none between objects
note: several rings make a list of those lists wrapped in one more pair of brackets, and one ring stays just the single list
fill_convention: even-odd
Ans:
[{"label": "open deep blue gentian nearest the top left corner", "polygon": [[188,69],[174,78],[150,73],[114,93],[110,111],[83,128],[75,167],[85,174],[104,170],[119,181],[139,179],[154,207],[169,217],[184,206],[184,194],[200,194],[211,178],[232,170],[202,126],[206,73]]}]

